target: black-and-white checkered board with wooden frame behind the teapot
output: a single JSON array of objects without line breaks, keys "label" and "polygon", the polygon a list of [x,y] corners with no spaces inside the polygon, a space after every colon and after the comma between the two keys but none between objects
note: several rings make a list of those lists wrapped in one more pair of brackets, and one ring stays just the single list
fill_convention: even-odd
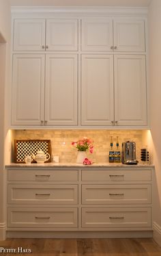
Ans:
[{"label": "black-and-white checkered board with wooden frame behind the teapot", "polygon": [[15,140],[14,160],[16,163],[25,163],[25,157],[27,155],[31,155],[32,153],[36,155],[40,149],[45,154],[50,154],[50,140]]}]

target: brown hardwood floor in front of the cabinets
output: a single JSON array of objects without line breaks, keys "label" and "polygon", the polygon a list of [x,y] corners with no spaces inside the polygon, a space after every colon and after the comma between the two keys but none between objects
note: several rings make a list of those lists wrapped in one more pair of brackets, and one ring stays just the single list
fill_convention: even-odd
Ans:
[{"label": "brown hardwood floor in front of the cabinets", "polygon": [[[15,250],[15,251],[14,251]],[[31,253],[27,253],[31,250]],[[32,256],[161,256],[150,238],[123,239],[7,239],[0,255]]]}]

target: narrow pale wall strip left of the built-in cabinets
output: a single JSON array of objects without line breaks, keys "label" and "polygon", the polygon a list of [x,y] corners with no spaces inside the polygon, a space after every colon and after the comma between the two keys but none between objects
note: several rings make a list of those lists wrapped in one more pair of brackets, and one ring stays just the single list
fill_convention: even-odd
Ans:
[{"label": "narrow pale wall strip left of the built-in cabinets", "polygon": [[5,88],[10,83],[10,3],[0,0],[0,240],[5,239]]}]

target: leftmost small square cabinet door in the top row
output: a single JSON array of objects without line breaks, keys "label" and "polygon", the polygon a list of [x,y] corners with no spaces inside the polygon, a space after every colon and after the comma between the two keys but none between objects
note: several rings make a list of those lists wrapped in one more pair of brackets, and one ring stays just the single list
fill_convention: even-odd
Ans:
[{"label": "leftmost small square cabinet door in the top row", "polygon": [[14,51],[45,51],[45,19],[14,20]]}]

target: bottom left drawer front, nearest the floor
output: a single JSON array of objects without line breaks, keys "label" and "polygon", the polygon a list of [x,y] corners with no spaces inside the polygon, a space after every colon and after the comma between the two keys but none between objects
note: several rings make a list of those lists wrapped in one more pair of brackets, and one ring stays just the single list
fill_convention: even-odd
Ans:
[{"label": "bottom left drawer front, nearest the floor", "polygon": [[8,207],[8,227],[78,227],[78,209]]}]

